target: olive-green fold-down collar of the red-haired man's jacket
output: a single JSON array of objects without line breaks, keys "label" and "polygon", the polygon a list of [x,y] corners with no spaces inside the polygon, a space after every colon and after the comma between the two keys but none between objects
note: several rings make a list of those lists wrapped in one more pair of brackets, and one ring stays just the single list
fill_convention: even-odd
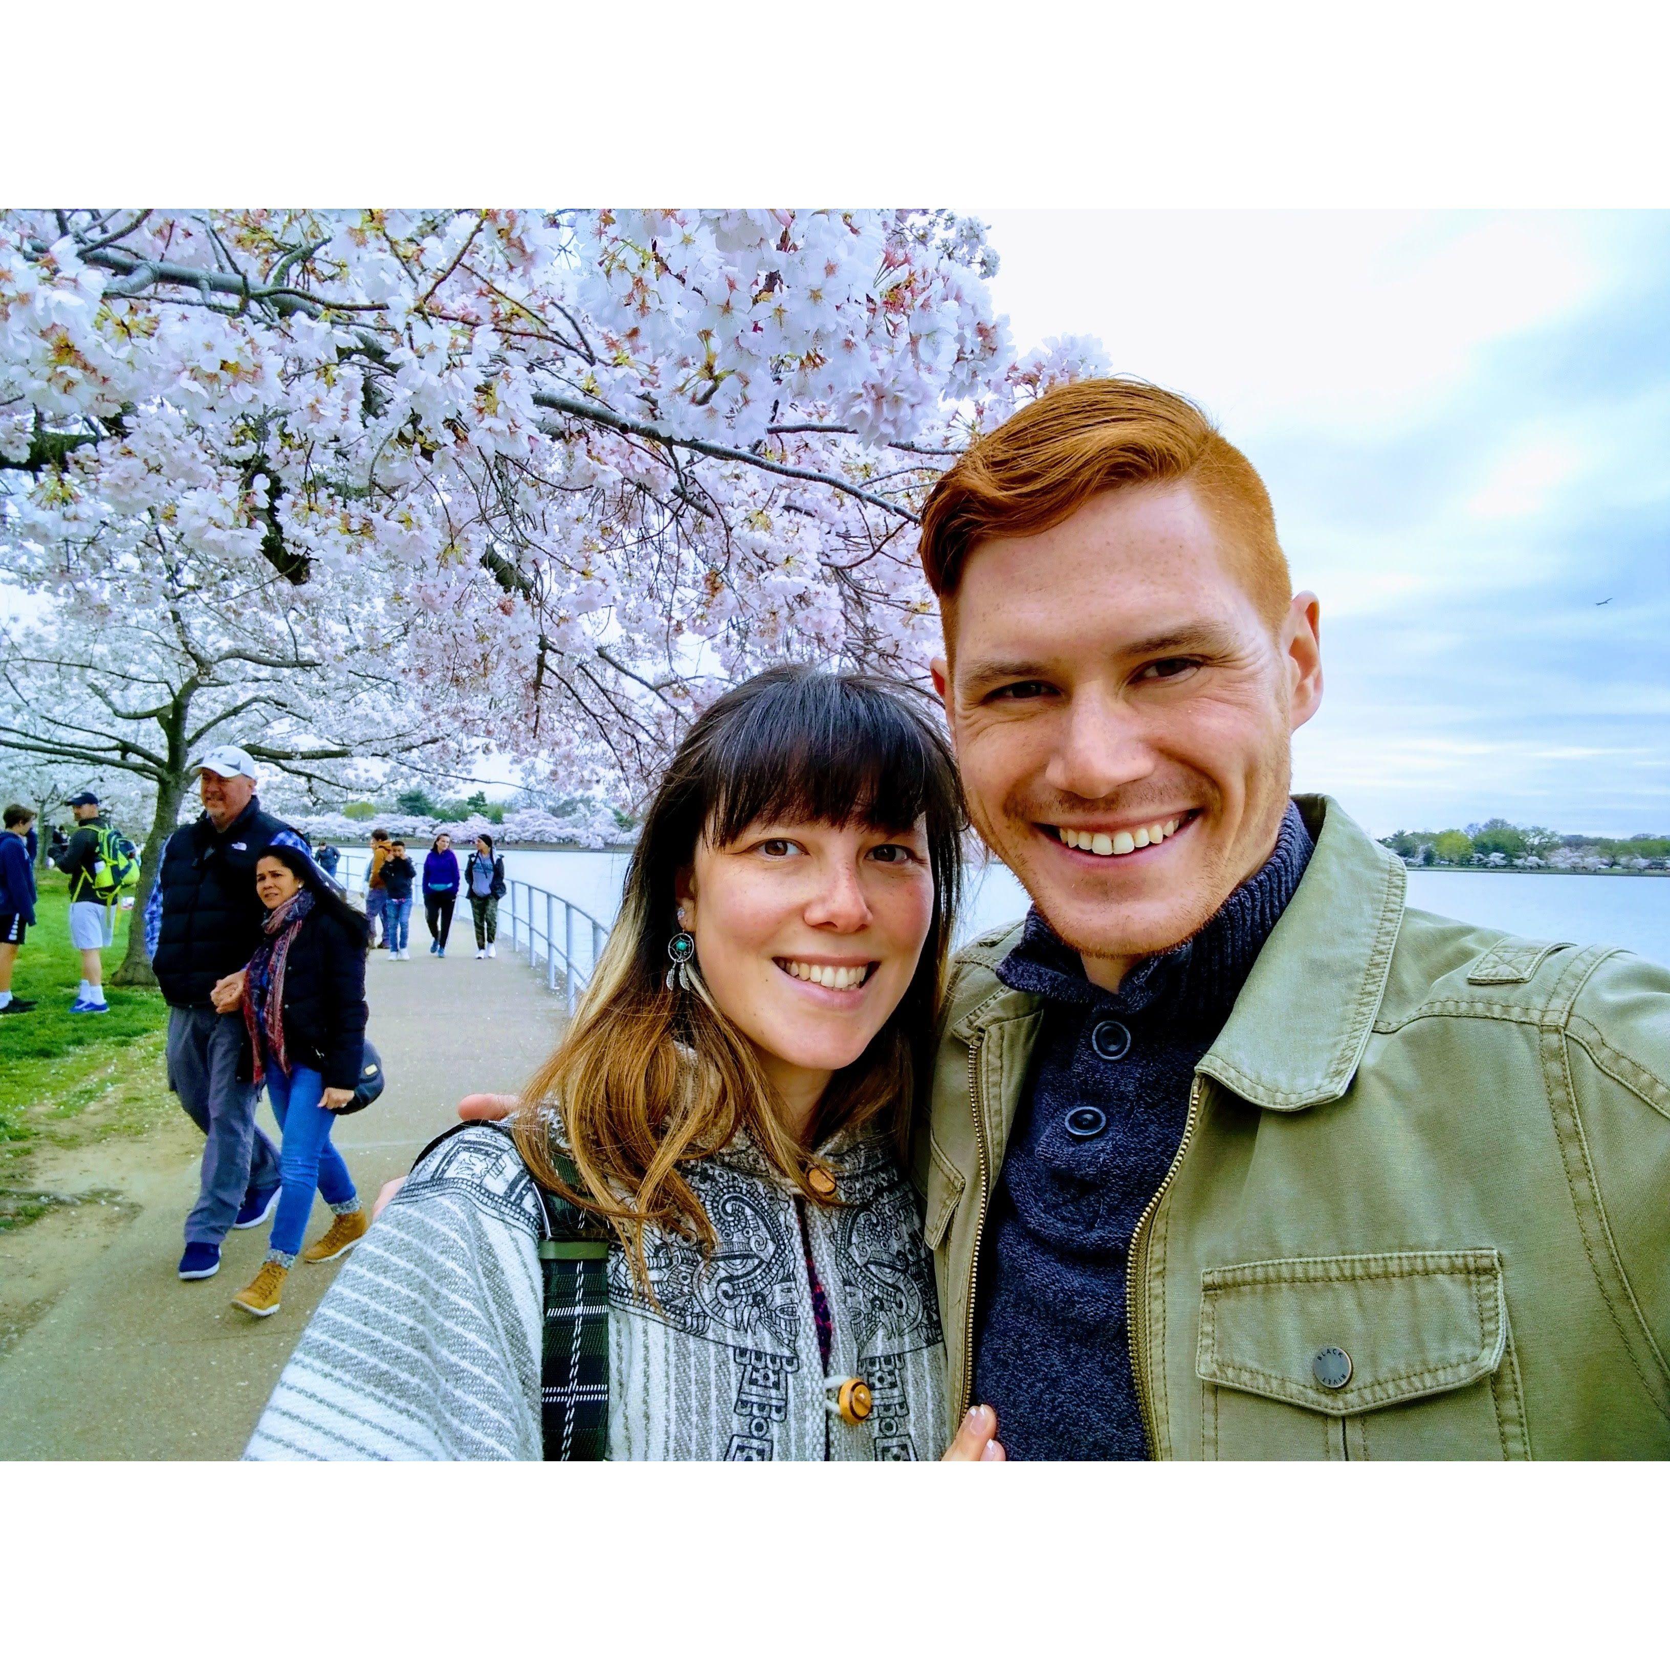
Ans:
[{"label": "olive-green fold-down collar of the red-haired man's jacket", "polygon": [[[1374,1029],[1406,885],[1403,860],[1371,840],[1338,802],[1296,795],[1294,803],[1316,852],[1197,1069],[1271,1112],[1344,1096]],[[962,952],[990,970],[995,990],[952,1017],[952,1037],[974,1042],[987,1027],[1042,1007],[1040,997],[997,980],[997,964],[1020,932],[1017,924],[1002,940]]]}]

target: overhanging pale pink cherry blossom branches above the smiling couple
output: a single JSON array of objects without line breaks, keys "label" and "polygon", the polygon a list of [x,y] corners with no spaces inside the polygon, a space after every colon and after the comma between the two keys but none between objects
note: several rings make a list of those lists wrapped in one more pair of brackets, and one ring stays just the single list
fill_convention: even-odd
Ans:
[{"label": "overhanging pale pink cherry blossom branches above the smiling couple", "polygon": [[160,529],[633,792],[760,665],[920,673],[925,491],[1101,369],[1017,357],[992,271],[944,210],[7,212],[0,578],[109,606]]}]

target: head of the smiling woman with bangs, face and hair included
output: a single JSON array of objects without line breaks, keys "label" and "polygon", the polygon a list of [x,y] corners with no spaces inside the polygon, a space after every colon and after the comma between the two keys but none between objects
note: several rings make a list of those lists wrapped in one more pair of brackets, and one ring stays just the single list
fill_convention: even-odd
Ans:
[{"label": "head of the smiling woman with bangs, face and hair included", "polygon": [[[960,833],[950,753],[890,686],[782,668],[721,696],[668,767],[598,975],[524,1097],[534,1174],[561,1186],[538,1112],[556,1104],[588,1204],[636,1261],[645,1224],[710,1232],[676,1164],[738,1129],[795,1184],[843,1129],[897,1139]],[[680,930],[695,957],[670,984]]]}]

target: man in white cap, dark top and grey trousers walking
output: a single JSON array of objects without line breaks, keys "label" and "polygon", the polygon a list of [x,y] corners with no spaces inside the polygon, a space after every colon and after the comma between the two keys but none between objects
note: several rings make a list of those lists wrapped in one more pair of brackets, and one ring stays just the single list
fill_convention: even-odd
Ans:
[{"label": "man in white cap, dark top and grey trousers walking", "polygon": [[145,905],[145,947],[169,1004],[169,1087],[204,1132],[182,1281],[212,1276],[227,1231],[264,1224],[279,1192],[279,1152],[256,1126],[259,1092],[239,1079],[244,1027],[217,1012],[214,990],[261,944],[256,855],[274,842],[307,852],[261,810],[256,762],[242,748],[214,748],[199,770],[202,817],[169,837]]}]

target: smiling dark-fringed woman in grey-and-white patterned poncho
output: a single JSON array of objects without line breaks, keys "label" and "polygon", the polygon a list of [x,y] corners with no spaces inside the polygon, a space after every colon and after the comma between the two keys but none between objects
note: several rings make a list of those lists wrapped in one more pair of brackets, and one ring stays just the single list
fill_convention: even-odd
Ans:
[{"label": "smiling dark-fringed woman in grey-and-white patterned poncho", "polygon": [[[903,693],[780,668],[715,701],[563,1042],[509,1126],[419,1157],[250,1455],[939,1456],[945,1341],[902,1159],[962,828]],[[950,1455],[1002,1460],[994,1430],[970,1413]]]}]

